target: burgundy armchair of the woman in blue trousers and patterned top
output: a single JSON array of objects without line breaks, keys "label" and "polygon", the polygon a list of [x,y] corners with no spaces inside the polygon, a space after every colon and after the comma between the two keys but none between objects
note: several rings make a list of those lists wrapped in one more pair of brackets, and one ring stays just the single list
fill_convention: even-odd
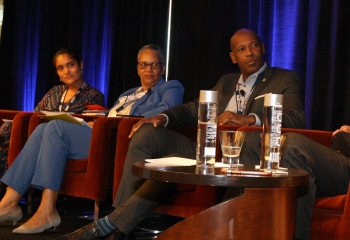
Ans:
[{"label": "burgundy armchair of the woman in blue trousers and patterned top", "polygon": [[[34,131],[36,126],[43,122],[38,117],[41,113],[33,113],[29,130],[20,131],[19,128],[13,128],[13,135],[27,137]],[[107,118],[100,116],[74,115],[84,118],[85,121],[95,120],[89,157],[80,160],[68,159],[66,173],[62,182],[60,193],[73,197],[88,198],[95,201],[94,218],[98,218],[99,202],[104,201],[108,189],[113,186],[113,169],[114,155],[116,146],[116,134],[119,122],[122,118]],[[24,134],[25,133],[25,134]],[[22,136],[24,138],[24,136]],[[12,136],[11,136],[12,139]],[[16,146],[18,145],[18,146]],[[9,165],[14,161],[21,151],[23,145],[20,146],[16,142],[11,146]],[[29,199],[29,205],[31,199]],[[28,211],[31,211],[29,206]]]}]

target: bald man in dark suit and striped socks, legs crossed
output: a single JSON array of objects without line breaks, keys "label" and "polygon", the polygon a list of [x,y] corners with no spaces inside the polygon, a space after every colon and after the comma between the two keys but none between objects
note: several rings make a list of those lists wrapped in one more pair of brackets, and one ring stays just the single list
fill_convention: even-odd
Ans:
[{"label": "bald man in dark suit and striped socks, legs crossed", "polygon": [[[261,125],[264,98],[256,97],[274,93],[283,94],[283,127],[303,128],[305,115],[297,74],[266,64],[263,60],[265,46],[251,30],[238,30],[232,36],[230,45],[230,57],[234,64],[238,64],[241,73],[224,75],[212,89],[219,92],[218,124]],[[195,142],[167,127],[197,122],[198,100],[136,123],[130,134],[132,139],[123,177],[113,203],[115,210],[105,218],[59,239],[97,239],[110,235],[114,229],[114,237],[130,233],[174,192],[174,184],[133,176],[132,164],[171,153],[195,154]]]}]

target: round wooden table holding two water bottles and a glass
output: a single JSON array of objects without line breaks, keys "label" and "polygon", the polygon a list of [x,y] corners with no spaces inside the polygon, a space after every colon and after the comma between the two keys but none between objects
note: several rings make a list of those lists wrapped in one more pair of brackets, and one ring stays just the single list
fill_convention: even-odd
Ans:
[{"label": "round wooden table holding two water bottles and a glass", "polygon": [[[245,165],[240,170],[255,170]],[[298,187],[308,173],[288,169],[271,176],[222,174],[196,166],[133,165],[133,174],[157,181],[243,188],[242,194],[195,214],[168,228],[157,239],[293,239]]]}]

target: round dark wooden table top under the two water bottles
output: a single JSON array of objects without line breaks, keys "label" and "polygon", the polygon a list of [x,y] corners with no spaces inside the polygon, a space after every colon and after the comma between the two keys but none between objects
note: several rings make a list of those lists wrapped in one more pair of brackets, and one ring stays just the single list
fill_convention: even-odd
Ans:
[{"label": "round dark wooden table top under the two water bottles", "polygon": [[[240,170],[255,170],[255,165],[245,164]],[[270,176],[222,174],[221,168],[203,171],[196,166],[154,166],[146,161],[133,164],[133,174],[145,179],[184,184],[245,187],[245,188],[283,188],[308,184],[309,174],[302,170],[288,169],[285,174]]]}]

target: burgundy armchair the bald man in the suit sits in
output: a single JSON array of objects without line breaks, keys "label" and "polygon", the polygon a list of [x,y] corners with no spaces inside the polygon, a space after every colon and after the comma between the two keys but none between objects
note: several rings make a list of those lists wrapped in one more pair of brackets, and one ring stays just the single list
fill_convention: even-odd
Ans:
[{"label": "burgundy armchair the bald man in the suit sits in", "polygon": [[[117,150],[114,165],[113,196],[116,195],[123,175],[124,161],[128,151],[130,139],[128,135],[138,118],[123,119],[119,124],[117,136]],[[237,129],[233,125],[219,125],[218,129]],[[197,139],[197,125],[186,125],[172,129],[193,141]],[[217,138],[219,139],[219,138]],[[216,161],[221,161],[220,141],[216,142]],[[178,217],[190,217],[222,201],[226,188],[214,186],[201,186],[190,184],[177,184],[176,194],[166,204],[162,204],[154,211]]]}]

